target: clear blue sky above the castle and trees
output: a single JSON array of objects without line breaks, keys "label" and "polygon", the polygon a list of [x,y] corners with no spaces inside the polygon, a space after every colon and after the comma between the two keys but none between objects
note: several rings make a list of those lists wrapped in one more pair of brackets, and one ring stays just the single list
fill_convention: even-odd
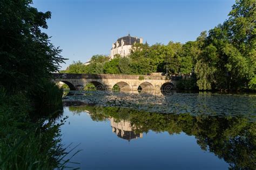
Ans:
[{"label": "clear blue sky above the castle and trees", "polygon": [[51,42],[69,58],[63,69],[93,55],[110,55],[112,43],[126,36],[150,45],[195,40],[201,31],[223,23],[234,0],[33,0],[38,11],[51,11]]}]

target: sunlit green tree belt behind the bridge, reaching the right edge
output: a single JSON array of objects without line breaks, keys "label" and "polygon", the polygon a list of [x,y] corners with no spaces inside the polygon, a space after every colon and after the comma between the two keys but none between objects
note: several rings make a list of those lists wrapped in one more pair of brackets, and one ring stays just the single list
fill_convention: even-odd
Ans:
[{"label": "sunlit green tree belt behind the bridge, reaching the right edge", "polygon": [[[151,46],[136,43],[126,57],[117,55],[109,60],[104,56],[93,56],[91,64],[79,73],[194,73],[200,90],[254,90],[255,6],[253,0],[237,0],[223,24],[201,32],[193,42]],[[180,84],[184,87],[186,83]]]}]

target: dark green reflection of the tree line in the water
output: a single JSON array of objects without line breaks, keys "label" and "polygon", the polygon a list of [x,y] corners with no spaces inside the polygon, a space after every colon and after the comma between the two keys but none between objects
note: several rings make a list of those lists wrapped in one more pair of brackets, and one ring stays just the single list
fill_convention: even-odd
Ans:
[{"label": "dark green reflection of the tree line in the water", "polygon": [[223,158],[232,169],[254,169],[256,166],[256,122],[244,117],[159,114],[117,107],[69,107],[76,112],[89,111],[94,121],[114,118],[129,120],[136,134],[149,132],[184,132],[194,135],[204,151]]}]

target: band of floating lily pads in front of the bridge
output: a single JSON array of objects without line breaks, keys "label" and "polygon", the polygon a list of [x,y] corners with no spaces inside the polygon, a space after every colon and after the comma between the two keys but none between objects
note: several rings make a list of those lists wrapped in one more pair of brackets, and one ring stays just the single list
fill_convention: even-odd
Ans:
[{"label": "band of floating lily pads in front of the bridge", "polygon": [[126,107],[158,113],[190,113],[192,115],[248,115],[255,118],[256,96],[219,93],[117,93],[108,91],[75,92],[64,101],[80,101],[98,106]]}]

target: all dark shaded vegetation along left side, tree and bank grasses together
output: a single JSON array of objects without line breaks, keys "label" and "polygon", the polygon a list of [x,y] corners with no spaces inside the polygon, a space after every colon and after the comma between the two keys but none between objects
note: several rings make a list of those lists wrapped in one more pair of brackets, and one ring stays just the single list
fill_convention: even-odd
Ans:
[{"label": "all dark shaded vegetation along left side, tree and bank grasses together", "polygon": [[0,1],[0,169],[63,168],[63,90],[50,83],[64,63],[32,1]]}]

